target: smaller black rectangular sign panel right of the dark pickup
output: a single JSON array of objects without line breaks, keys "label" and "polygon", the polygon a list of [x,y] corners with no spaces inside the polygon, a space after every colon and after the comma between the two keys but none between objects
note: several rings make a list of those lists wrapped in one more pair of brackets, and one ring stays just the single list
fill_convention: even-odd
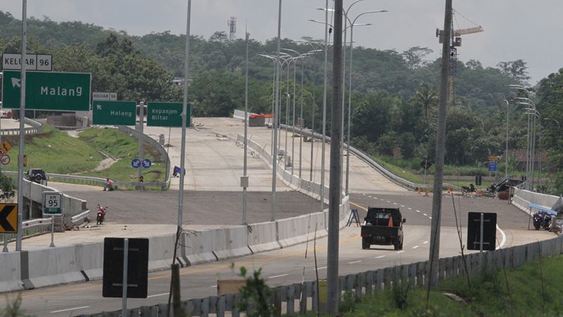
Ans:
[{"label": "smaller black rectangular sign panel right of the dark pickup", "polygon": [[[494,251],[497,239],[497,214],[483,213],[483,250]],[[481,240],[481,213],[467,216],[467,249],[479,250]]]}]

